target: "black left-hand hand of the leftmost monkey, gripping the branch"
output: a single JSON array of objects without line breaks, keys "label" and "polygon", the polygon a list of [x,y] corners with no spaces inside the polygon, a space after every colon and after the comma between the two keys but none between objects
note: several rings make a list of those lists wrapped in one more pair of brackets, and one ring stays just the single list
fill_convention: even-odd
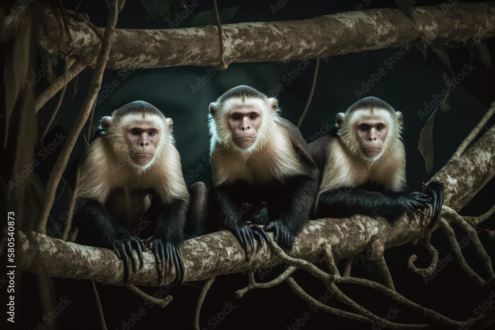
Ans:
[{"label": "black left-hand hand of the leftmost monkey, gripping the branch", "polygon": [[139,237],[130,235],[130,234],[119,234],[114,238],[113,242],[109,244],[110,249],[117,254],[117,256],[122,259],[124,262],[124,284],[127,284],[127,280],[129,280],[129,259],[131,259],[132,270],[134,272],[137,271],[136,267],[136,257],[134,253],[132,253],[133,247],[138,252],[139,262],[141,263],[141,267],[143,267],[143,242]]}]

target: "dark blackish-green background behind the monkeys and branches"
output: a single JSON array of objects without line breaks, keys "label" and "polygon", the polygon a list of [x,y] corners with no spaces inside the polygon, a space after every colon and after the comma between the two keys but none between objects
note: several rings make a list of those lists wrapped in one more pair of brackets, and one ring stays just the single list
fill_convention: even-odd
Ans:
[{"label": "dark blackish-green background behind the monkeys and branches", "polygon": [[[66,8],[73,9],[78,1],[63,1]],[[468,1],[476,2],[476,1]],[[211,9],[211,1],[199,0],[200,5],[184,19],[176,20],[176,13],[170,15],[172,22],[179,27],[190,26],[191,20],[203,10]],[[275,14],[271,5],[277,6],[276,0],[270,1],[218,1],[220,10],[239,5],[231,23],[249,21],[279,21],[300,20],[345,12],[355,9],[370,9],[383,7],[397,7],[395,1],[299,1],[290,0],[284,3]],[[437,1],[417,1],[416,5],[429,5],[439,3]],[[104,26],[108,15],[108,9],[104,1],[83,1],[79,12],[87,13],[96,26]],[[169,28],[169,23],[161,18],[149,19],[144,6],[139,1],[128,0],[119,15],[117,28]],[[404,19],[407,19],[404,17]],[[366,33],[363,31],[362,33]],[[489,50],[493,53],[494,40],[488,40]],[[465,65],[475,68],[451,91],[451,107],[448,112],[438,112],[435,120],[434,146],[435,161],[431,174],[425,170],[424,160],[417,150],[418,139],[423,125],[428,117],[418,112],[424,111],[425,102],[430,103],[438,97],[445,83],[442,76],[442,67],[438,56],[428,49],[426,59],[423,54],[414,47],[409,47],[406,54],[390,68],[384,61],[389,56],[394,56],[399,49],[386,48],[367,53],[347,54],[334,56],[320,62],[318,80],[314,96],[302,126],[302,136],[311,141],[318,138],[320,129],[326,125],[333,125],[338,112],[344,112],[347,107],[355,102],[355,90],[360,90],[363,83],[370,79],[380,68],[385,69],[386,74],[372,86],[367,93],[361,96],[377,96],[389,102],[396,110],[404,115],[403,139],[407,154],[407,181],[409,189],[419,189],[422,182],[427,181],[431,175],[441,169],[450,159],[457,146],[474,128],[481,119],[486,109],[495,96],[495,76],[492,68],[479,61],[471,61],[466,47],[449,50],[448,55],[452,68],[456,74],[460,73]],[[494,56],[491,56],[492,63]],[[276,96],[282,108],[282,115],[293,123],[297,120],[306,103],[313,76],[315,61],[309,60],[307,67],[301,70],[295,79],[288,80],[288,72],[292,72],[298,61],[288,63],[234,63],[229,65],[226,71],[216,71],[207,67],[183,66],[162,69],[144,69],[137,71],[106,70],[103,78],[102,89],[97,100],[94,123],[108,115],[120,105],[141,99],[150,102],[164,112],[167,117],[174,120],[174,134],[177,140],[177,148],[182,157],[183,172],[188,184],[197,181],[209,180],[208,157],[208,130],[207,109],[211,101],[228,89],[245,84],[271,96]],[[59,71],[61,74],[63,71]],[[210,72],[214,75],[210,79],[203,79]],[[75,118],[84,102],[93,70],[86,69],[79,75],[78,93],[72,101],[70,97],[62,104],[58,124],[47,136],[45,141],[52,141],[54,134],[67,133],[72,128]],[[117,79],[119,86],[110,88],[112,80]],[[200,90],[192,91],[191,86],[198,86],[198,80],[208,80]],[[277,85],[281,84],[283,91],[275,94]],[[36,86],[38,92],[43,91],[48,85],[40,83]],[[72,83],[68,91],[71,91]],[[106,92],[106,93],[105,93]],[[70,94],[71,92],[68,92]],[[46,120],[49,119],[57,97],[50,100],[45,107]],[[67,112],[65,110],[68,110]],[[65,113],[65,114],[64,114]],[[494,125],[491,120],[487,127]],[[95,127],[96,128],[96,124]],[[85,132],[87,130],[85,129]],[[485,129],[482,134],[486,132]],[[61,149],[61,148],[60,148]],[[65,177],[70,181],[72,176],[71,166],[77,164],[77,157],[84,151],[82,139],[78,142],[69,169]],[[40,177],[46,176],[51,170],[59,149],[55,150],[45,161],[43,166],[37,169]],[[204,168],[203,171],[198,171]],[[62,184],[61,184],[62,186]],[[54,205],[52,218],[63,225],[61,215],[67,210],[67,194],[60,187],[57,196],[61,196]],[[493,182],[483,188],[473,201],[466,206],[461,214],[480,215],[486,212],[495,201],[493,197]],[[483,223],[481,228],[493,229],[494,218]],[[476,258],[472,242],[467,234],[456,228],[456,237],[461,242],[463,253],[468,263],[483,278],[487,278],[483,264]],[[490,241],[485,232],[479,233],[480,239],[490,255],[494,255],[495,244]],[[464,240],[463,240],[464,239]],[[432,238],[434,246],[439,250],[439,258],[444,260],[444,265],[438,267],[439,272],[432,279],[423,279],[420,276],[408,272],[407,259],[412,253],[418,254],[418,267],[427,267],[430,256],[421,246],[406,244],[385,253],[389,268],[395,280],[396,289],[405,297],[432,308],[445,316],[455,320],[466,320],[476,317],[477,306],[489,301],[491,295],[495,297],[493,285],[480,288],[472,283],[460,269],[457,260],[451,259],[450,244],[442,230],[434,233]],[[373,276],[372,270],[365,265],[365,256],[360,255],[353,276]],[[342,265],[341,265],[342,266]],[[270,278],[274,273],[270,273]],[[266,281],[265,277],[263,281]],[[298,283],[307,289],[313,297],[324,297],[326,288],[318,280],[308,274],[298,271],[294,275]],[[88,281],[53,279],[56,303],[59,299],[67,297],[67,307],[62,314],[54,319],[60,329],[99,329],[99,318],[95,300]],[[36,284],[36,276],[25,274],[21,283],[20,313],[17,314],[18,329],[35,329],[43,320],[39,301],[39,288]],[[369,324],[362,324],[346,319],[337,318],[323,311],[314,312],[306,302],[292,293],[287,283],[282,283],[267,290],[252,290],[243,298],[235,297],[235,290],[247,285],[247,276],[233,274],[218,277],[210,289],[201,311],[201,329],[299,329],[297,322],[302,323],[304,313],[306,319],[304,329],[379,329]],[[98,285],[102,309],[108,329],[190,329],[193,322],[194,308],[198,298],[199,289],[193,286],[180,285],[174,288],[143,288],[151,295],[163,295],[163,292],[174,297],[164,309],[146,304],[143,299],[137,297],[127,288],[119,286]],[[421,323],[426,320],[419,314],[411,312],[405,307],[399,306],[392,300],[376,294],[372,290],[355,287],[352,285],[340,286],[345,293],[354,298],[364,307],[368,307],[378,316],[385,317],[391,310],[399,311],[394,316],[394,322]],[[161,291],[160,291],[161,289]],[[492,299],[493,300],[493,299]],[[225,319],[218,315],[225,307],[225,303],[236,307]],[[327,304],[334,307],[343,307],[335,298],[330,298]],[[489,304],[491,304],[489,302]],[[488,306],[488,305],[486,305]],[[491,304],[491,307],[494,307]],[[140,311],[145,311],[137,319]],[[309,317],[308,317],[309,316]],[[212,318],[218,317],[221,322],[216,323]],[[128,328],[126,328],[128,327]],[[43,328],[41,328],[43,329]]]}]

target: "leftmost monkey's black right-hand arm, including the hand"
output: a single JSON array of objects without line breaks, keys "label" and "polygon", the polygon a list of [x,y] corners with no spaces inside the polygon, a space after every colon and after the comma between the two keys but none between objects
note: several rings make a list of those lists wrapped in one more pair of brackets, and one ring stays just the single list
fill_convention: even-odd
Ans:
[{"label": "leftmost monkey's black right-hand arm, including the hand", "polygon": [[172,285],[182,283],[184,279],[184,262],[179,251],[179,243],[184,240],[184,228],[189,200],[175,198],[170,203],[160,201],[160,213],[156,221],[153,236],[146,239],[158,263],[160,283],[165,274],[172,269],[177,272]]}]

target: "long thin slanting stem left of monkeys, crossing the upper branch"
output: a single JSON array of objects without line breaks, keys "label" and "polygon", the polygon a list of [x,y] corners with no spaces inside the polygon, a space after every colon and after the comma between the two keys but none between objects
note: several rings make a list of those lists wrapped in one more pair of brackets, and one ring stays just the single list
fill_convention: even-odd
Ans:
[{"label": "long thin slanting stem left of monkeys, crossing the upper branch", "polygon": [[70,132],[67,141],[63,145],[62,151],[58,156],[55,163],[53,171],[50,174],[50,178],[46,188],[46,195],[43,205],[43,213],[41,214],[40,222],[38,223],[38,228],[36,231],[41,234],[46,233],[47,221],[50,214],[51,207],[53,206],[53,201],[55,200],[55,191],[60,182],[60,178],[67,166],[69,161],[70,153],[76,144],[77,138],[81,134],[84,124],[88,120],[93,103],[96,101],[98,92],[101,89],[101,80],[103,78],[103,72],[105,70],[106,62],[110,54],[111,40],[115,32],[115,25],[117,24],[117,7],[119,2],[124,2],[125,0],[117,0],[116,4],[112,6],[107,25],[105,28],[103,43],[100,48],[100,54],[95,67],[95,73],[93,74],[93,79],[91,80],[90,90],[86,96],[86,100],[82,106],[79,117],[77,118],[74,128]]}]

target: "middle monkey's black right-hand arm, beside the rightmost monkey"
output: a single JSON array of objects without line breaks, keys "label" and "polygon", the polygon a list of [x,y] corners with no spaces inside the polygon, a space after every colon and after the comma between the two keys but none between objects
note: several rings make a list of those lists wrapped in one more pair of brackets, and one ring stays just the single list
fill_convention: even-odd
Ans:
[{"label": "middle monkey's black right-hand arm, beside the rightmost monkey", "polygon": [[309,219],[318,191],[318,178],[316,167],[308,168],[307,176],[292,178],[287,185],[291,189],[289,208],[281,218],[270,221],[264,228],[265,231],[274,232],[275,241],[286,252],[292,249],[294,238]]}]

